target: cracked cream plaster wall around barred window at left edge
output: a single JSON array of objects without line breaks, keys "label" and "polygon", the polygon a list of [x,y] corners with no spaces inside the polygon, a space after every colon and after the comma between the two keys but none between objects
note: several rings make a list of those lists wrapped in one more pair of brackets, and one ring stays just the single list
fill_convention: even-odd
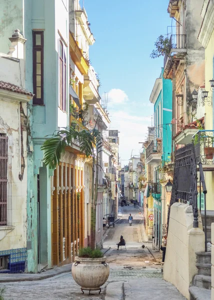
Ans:
[{"label": "cracked cream plaster wall around barred window at left edge", "polygon": [[[22,180],[19,179],[19,176],[21,159],[26,160],[27,155],[27,134],[26,127],[22,123],[23,119],[20,117],[19,102],[9,101],[0,93],[0,107],[0,133],[8,136],[7,220],[8,226],[10,226],[0,227],[0,250],[8,250],[26,247],[26,167],[22,169]],[[26,103],[22,103],[22,113],[26,115]]]}]

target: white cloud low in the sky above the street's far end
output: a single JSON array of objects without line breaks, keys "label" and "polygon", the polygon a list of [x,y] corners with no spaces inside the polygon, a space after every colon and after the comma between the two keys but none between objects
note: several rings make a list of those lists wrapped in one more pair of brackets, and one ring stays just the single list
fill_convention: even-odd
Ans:
[{"label": "white cloud low in the sky above the street's far end", "polygon": [[[111,120],[109,129],[118,129],[121,164],[127,164],[131,153],[139,155],[142,147],[139,142],[144,141],[147,126],[151,125],[151,116],[142,116],[142,114],[146,111],[147,115],[151,115],[152,104],[136,100],[130,102],[127,94],[119,88],[112,88],[107,95],[105,94],[105,100],[106,97],[108,97],[107,109]],[[102,95],[103,99],[104,95]]]}]

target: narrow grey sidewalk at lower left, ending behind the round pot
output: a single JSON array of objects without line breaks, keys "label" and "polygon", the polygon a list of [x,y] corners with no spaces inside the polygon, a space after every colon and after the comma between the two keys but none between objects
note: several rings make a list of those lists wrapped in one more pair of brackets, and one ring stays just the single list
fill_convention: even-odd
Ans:
[{"label": "narrow grey sidewalk at lower left, ending behind the round pot", "polygon": [[50,278],[71,271],[71,263],[41,273],[0,273],[0,282],[34,281]]}]

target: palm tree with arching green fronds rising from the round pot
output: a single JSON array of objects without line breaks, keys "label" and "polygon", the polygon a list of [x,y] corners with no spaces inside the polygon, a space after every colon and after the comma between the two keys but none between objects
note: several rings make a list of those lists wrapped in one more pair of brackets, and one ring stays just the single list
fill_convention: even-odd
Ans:
[{"label": "palm tree with arching green fronds rising from the round pot", "polygon": [[99,152],[102,150],[101,133],[95,129],[95,127],[90,131],[86,129],[77,131],[72,126],[61,130],[56,130],[51,137],[44,141],[43,145],[41,146],[41,150],[44,150],[43,161],[45,165],[49,165],[50,168],[54,169],[60,161],[61,154],[65,151],[65,146],[72,146],[74,141],[79,142],[80,151],[84,153],[85,158],[92,158],[90,235],[91,248],[94,249],[98,191],[98,157]]}]

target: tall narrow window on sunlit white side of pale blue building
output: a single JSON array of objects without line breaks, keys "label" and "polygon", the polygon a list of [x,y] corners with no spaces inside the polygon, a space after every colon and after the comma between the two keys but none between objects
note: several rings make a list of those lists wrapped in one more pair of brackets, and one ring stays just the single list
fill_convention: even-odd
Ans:
[{"label": "tall narrow window on sunlit white side of pale blue building", "polygon": [[65,46],[59,41],[59,107],[66,110],[66,55]]}]

